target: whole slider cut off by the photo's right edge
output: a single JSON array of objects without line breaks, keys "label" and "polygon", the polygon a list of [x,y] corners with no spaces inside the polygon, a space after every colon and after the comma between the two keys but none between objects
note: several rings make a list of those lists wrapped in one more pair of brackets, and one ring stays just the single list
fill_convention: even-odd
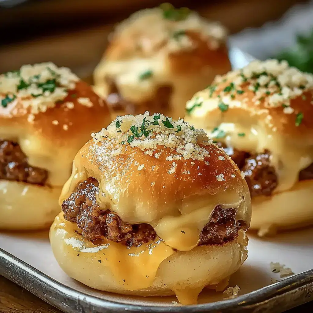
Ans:
[{"label": "whole slider cut off by the photo's right edge", "polygon": [[313,222],[313,75],[275,59],[217,77],[187,103],[243,171],[259,235]]}]

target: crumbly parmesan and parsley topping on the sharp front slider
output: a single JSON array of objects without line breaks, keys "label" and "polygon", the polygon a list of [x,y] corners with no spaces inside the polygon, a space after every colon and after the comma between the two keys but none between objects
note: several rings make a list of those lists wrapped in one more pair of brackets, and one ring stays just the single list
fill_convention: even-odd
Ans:
[{"label": "crumbly parmesan and parsley topping on the sharp front slider", "polygon": [[[149,112],[140,115],[118,116],[107,129],[103,128],[96,134],[92,134],[95,143],[110,138],[112,143],[122,147],[130,145],[146,151],[148,155],[159,158],[164,150],[158,150],[160,146],[170,149],[167,160],[204,160],[210,156],[204,146],[212,144],[203,130],[194,129],[188,123],[179,119],[173,121],[162,114],[149,115]],[[172,162],[169,174],[176,170],[176,162]],[[139,168],[138,168],[139,169]]]}]

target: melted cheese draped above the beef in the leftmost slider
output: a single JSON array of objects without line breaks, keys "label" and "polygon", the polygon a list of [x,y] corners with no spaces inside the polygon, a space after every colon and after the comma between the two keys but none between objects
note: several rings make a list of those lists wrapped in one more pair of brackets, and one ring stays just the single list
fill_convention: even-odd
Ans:
[{"label": "melted cheese draped above the beef in the leftmost slider", "polygon": [[75,145],[57,147],[35,132],[28,133],[25,127],[0,126],[0,138],[17,142],[28,157],[28,164],[49,172],[48,184],[53,187],[62,187],[66,182],[70,175],[73,157],[80,148]]}]

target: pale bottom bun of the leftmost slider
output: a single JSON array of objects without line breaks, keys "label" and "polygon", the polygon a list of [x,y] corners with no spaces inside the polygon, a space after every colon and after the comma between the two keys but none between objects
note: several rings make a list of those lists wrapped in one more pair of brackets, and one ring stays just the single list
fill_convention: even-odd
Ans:
[{"label": "pale bottom bun of the leftmost slider", "polygon": [[0,229],[49,228],[56,214],[61,188],[0,179]]}]

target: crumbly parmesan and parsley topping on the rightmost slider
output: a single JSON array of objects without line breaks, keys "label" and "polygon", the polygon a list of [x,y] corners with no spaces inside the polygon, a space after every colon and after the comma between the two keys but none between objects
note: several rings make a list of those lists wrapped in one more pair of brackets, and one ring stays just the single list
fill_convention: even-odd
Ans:
[{"label": "crumbly parmesan and parsley topping on the rightmost slider", "polygon": [[[227,85],[225,85],[225,83]],[[223,87],[219,87],[223,84]],[[290,100],[302,96],[306,100],[305,93],[313,90],[313,74],[303,73],[295,67],[290,67],[286,61],[269,59],[266,61],[255,60],[243,69],[231,71],[226,75],[217,76],[211,86],[202,97],[196,95],[187,102],[186,112],[191,114],[197,107],[201,107],[205,98],[217,99],[218,108],[225,112],[229,107],[241,107],[248,101],[244,97],[244,88],[248,85],[248,90],[254,93],[252,102],[255,106],[261,103],[264,108],[258,114],[268,113],[268,108],[283,107],[284,114],[295,114],[295,126],[299,126],[303,114],[295,111],[290,106]],[[240,100],[237,100],[238,96]],[[243,98],[242,98],[243,97]],[[271,124],[271,116],[266,121]]]}]

